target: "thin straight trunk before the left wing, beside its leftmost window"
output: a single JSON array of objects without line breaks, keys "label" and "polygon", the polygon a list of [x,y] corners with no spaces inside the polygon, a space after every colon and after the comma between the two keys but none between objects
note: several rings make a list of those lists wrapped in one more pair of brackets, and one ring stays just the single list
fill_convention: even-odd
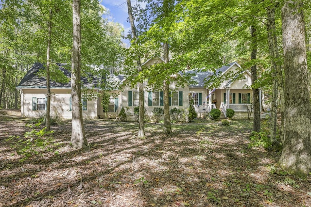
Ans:
[{"label": "thin straight trunk before the left wing, beside its leftmost window", "polygon": [[50,122],[50,108],[51,108],[51,90],[50,90],[50,48],[51,48],[51,34],[52,34],[52,9],[50,9],[49,21],[48,21],[48,47],[47,47],[47,112],[45,118],[45,127],[47,131],[51,130]]}]

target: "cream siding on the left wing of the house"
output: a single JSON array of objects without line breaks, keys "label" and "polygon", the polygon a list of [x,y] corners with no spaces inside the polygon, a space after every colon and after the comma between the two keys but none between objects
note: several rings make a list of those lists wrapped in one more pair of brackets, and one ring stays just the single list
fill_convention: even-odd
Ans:
[{"label": "cream siding on the left wing of the house", "polygon": [[[51,116],[59,116],[63,119],[71,119],[70,89],[51,89]],[[27,117],[40,117],[46,114],[46,110],[33,111],[33,97],[46,98],[46,89],[22,89],[23,107],[22,115]],[[82,111],[84,118],[97,118],[97,99],[87,100],[86,111]]]}]

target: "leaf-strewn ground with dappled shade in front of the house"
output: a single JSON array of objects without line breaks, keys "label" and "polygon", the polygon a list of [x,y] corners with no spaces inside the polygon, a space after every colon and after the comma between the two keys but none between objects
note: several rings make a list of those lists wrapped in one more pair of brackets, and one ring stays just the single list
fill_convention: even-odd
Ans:
[{"label": "leaf-strewn ground with dappled shade in front of the house", "polygon": [[147,124],[146,140],[136,123],[86,120],[86,150],[69,147],[63,121],[52,126],[54,150],[21,161],[12,146],[27,121],[0,116],[0,207],[311,206],[311,177],[286,175],[278,153],[249,149],[248,120],[173,124],[172,136]]}]

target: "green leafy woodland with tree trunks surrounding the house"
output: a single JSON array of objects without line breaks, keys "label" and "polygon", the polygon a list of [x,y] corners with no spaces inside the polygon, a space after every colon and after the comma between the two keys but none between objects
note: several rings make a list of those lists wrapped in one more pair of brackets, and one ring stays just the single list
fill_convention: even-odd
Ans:
[{"label": "green leafy woodland with tree trunks surrounding the house", "polygon": [[[146,6],[140,6],[139,2]],[[237,76],[223,77],[215,73],[216,69],[238,61],[241,72],[249,70],[252,76],[254,118],[252,129],[247,129],[248,137],[257,137],[265,149],[281,153],[280,157],[273,154],[276,156],[273,159],[279,159],[277,164],[273,161],[278,169],[277,176],[282,174],[279,172],[285,172],[308,179],[311,172],[310,3],[303,0],[138,0],[132,5],[133,2],[127,0],[131,23],[127,38],[131,46],[125,48],[121,38],[127,34],[118,23],[108,21],[107,11],[97,0],[2,0],[0,108],[20,107],[19,92],[15,87],[34,63],[44,63],[46,70],[40,74],[47,80],[47,111],[46,128],[42,130],[49,133],[52,127],[50,80],[68,81],[56,65],[67,63],[71,65],[68,69],[71,71],[70,111],[74,128],[68,143],[70,141],[75,149],[84,147],[88,150],[95,143],[90,142],[85,133],[81,76],[93,74],[103,78],[109,73],[107,69],[113,67],[130,80],[127,84],[139,84],[139,127],[133,136],[143,140],[137,142],[148,143],[155,136],[145,131],[143,81],[148,80],[147,90],[162,91],[164,120],[159,136],[160,140],[165,140],[176,133],[170,118],[170,84],[173,81],[179,85],[191,84],[191,75],[187,76],[186,72],[203,69],[214,72],[206,87],[216,88],[224,78],[230,80]],[[162,58],[163,63],[142,66],[141,63],[153,57]],[[101,69],[92,67],[100,65]],[[109,88],[105,83],[102,81],[101,87]],[[261,126],[260,111],[266,109],[260,109],[259,91],[265,95],[265,104],[271,109],[270,123],[265,127]],[[238,128],[241,133],[245,130]],[[107,133],[110,132],[103,132],[103,136]],[[186,136],[187,132],[183,133]],[[189,139],[193,134],[189,134]],[[9,139],[7,135],[5,140]],[[247,167],[243,171],[247,171]],[[143,179],[140,181],[144,183]],[[308,197],[311,190],[310,187],[307,189],[304,190]],[[209,199],[213,198],[214,204],[223,205],[218,203],[220,195],[215,189],[208,192],[212,193]],[[167,200],[171,200],[172,195],[169,196]],[[310,197],[304,199],[310,202]],[[288,203],[280,205],[290,206]]]}]

